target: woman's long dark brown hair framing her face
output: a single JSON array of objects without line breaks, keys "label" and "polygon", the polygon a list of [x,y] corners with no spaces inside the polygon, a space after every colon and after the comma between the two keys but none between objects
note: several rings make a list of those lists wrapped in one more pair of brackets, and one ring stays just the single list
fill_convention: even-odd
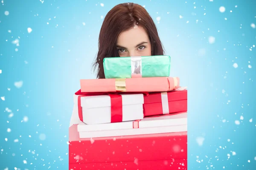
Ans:
[{"label": "woman's long dark brown hair framing her face", "polygon": [[93,63],[97,78],[105,78],[103,70],[103,59],[105,57],[120,57],[116,49],[119,34],[135,25],[145,28],[151,42],[151,55],[164,54],[157,27],[145,8],[136,3],[118,4],[106,15],[99,33],[99,50]]}]

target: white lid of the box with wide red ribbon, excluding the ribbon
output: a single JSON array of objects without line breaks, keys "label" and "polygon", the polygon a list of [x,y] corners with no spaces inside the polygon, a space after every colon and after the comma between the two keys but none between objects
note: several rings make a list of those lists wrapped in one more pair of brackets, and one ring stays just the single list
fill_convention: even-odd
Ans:
[{"label": "white lid of the box with wide red ribbon, excluding the ribbon", "polygon": [[[136,105],[143,104],[143,94],[120,94],[122,96],[122,105]],[[78,96],[74,94],[74,104],[78,103]],[[98,96],[82,96],[81,107],[86,108],[100,108],[110,107],[111,98],[109,95],[98,95]]]}]

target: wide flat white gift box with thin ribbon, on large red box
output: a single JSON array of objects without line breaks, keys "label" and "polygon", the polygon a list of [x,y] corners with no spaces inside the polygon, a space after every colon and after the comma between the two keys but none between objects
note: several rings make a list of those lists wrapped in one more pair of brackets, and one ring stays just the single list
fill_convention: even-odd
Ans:
[{"label": "wide flat white gift box with thin ribbon, on large red box", "polygon": [[140,121],[77,126],[80,138],[143,135],[187,131],[187,112],[145,117]]}]

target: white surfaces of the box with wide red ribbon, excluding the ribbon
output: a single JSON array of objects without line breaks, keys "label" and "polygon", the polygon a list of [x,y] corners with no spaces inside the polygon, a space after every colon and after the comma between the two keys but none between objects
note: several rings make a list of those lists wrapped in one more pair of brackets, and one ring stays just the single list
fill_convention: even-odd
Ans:
[{"label": "white surfaces of the box with wide red ribbon, excluding the ribbon", "polygon": [[[78,96],[74,103],[78,108]],[[143,94],[122,96],[122,122],[143,119]],[[81,96],[82,122],[87,125],[111,123],[111,97],[109,95]],[[75,109],[76,110],[76,109]],[[78,110],[76,110],[79,115]]]}]

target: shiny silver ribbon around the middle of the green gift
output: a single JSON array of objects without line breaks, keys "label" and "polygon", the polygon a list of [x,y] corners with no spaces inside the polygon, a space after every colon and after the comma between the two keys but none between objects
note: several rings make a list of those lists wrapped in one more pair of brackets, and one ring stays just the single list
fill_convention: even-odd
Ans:
[{"label": "shiny silver ribbon around the middle of the green gift", "polygon": [[131,57],[131,77],[142,77],[141,56]]}]

